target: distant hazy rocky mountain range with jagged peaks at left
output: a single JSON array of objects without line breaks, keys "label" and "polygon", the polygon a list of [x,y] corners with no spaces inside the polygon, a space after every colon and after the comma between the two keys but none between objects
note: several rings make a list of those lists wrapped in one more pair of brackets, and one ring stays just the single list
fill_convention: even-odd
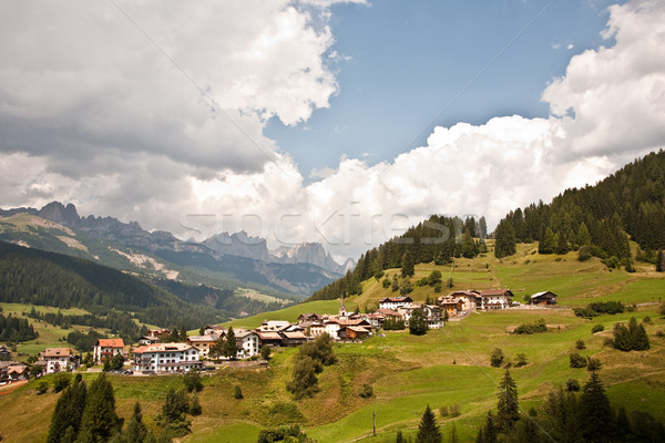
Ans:
[{"label": "distant hazy rocky mountain range with jagged peaks at left", "polygon": [[158,278],[248,287],[276,296],[311,293],[352,269],[320,244],[267,248],[246,233],[222,233],[202,241],[145,230],[136,222],[79,216],[74,205],[52,202],[35,208],[0,209],[0,240],[95,260],[116,269]]}]

